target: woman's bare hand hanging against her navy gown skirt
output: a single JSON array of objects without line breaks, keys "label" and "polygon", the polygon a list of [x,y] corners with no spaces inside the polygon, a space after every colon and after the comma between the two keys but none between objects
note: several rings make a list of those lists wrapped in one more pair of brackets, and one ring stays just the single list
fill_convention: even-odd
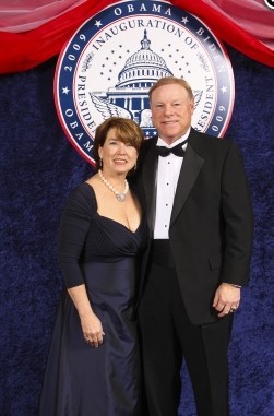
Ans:
[{"label": "woman's bare hand hanging against her navy gown skirt", "polygon": [[100,320],[93,312],[80,316],[80,320],[85,341],[97,348],[105,335]]}]

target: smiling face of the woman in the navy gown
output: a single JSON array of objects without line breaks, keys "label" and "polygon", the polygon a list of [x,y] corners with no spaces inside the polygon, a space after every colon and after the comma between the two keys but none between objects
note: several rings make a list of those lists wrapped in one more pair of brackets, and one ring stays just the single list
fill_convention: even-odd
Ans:
[{"label": "smiling face of the woman in the navy gown", "polygon": [[128,174],[138,158],[138,151],[130,143],[122,143],[117,139],[116,128],[109,129],[106,141],[98,148],[99,157],[103,159],[103,169],[105,174]]}]

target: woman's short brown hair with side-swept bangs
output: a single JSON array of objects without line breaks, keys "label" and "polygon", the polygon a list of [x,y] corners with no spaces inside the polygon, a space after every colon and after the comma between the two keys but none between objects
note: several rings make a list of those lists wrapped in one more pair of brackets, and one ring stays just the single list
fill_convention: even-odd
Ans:
[{"label": "woman's short brown hair with side-swept bangs", "polygon": [[93,155],[96,162],[96,166],[99,166],[99,154],[98,148],[103,147],[107,138],[107,133],[110,129],[116,129],[116,136],[122,143],[130,143],[138,154],[140,153],[141,146],[144,142],[144,135],[142,129],[135,121],[132,121],[122,117],[110,117],[100,123],[95,132]]}]

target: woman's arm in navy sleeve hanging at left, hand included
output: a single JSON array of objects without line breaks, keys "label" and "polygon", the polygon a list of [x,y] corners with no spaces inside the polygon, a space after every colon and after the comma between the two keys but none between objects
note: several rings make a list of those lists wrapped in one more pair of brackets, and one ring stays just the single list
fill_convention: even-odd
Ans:
[{"label": "woman's arm in navy sleeve hanging at left, hand included", "polygon": [[80,266],[93,209],[91,193],[83,187],[73,190],[61,215],[58,236],[58,260],[68,293],[78,310],[85,341],[97,347],[103,343],[100,320],[92,309]]}]

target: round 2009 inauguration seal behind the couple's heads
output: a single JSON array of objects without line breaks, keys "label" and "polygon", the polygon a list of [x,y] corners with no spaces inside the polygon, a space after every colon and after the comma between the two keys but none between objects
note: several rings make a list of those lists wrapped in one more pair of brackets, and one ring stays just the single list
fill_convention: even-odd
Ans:
[{"label": "round 2009 inauguration seal behind the couple's heads", "polygon": [[150,87],[163,76],[191,85],[192,127],[223,136],[234,74],[224,46],[194,15],[166,1],[122,1],[90,17],[59,56],[55,103],[65,135],[91,164],[96,127],[110,116],[138,122],[148,139]]}]

